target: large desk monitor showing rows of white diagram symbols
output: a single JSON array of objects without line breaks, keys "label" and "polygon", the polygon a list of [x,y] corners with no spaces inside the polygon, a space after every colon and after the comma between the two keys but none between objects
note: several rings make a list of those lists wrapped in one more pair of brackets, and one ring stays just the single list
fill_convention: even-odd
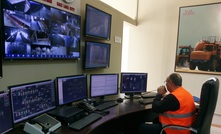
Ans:
[{"label": "large desk monitor showing rows of white diagram symbols", "polygon": [[54,80],[10,86],[13,123],[56,108]]}]

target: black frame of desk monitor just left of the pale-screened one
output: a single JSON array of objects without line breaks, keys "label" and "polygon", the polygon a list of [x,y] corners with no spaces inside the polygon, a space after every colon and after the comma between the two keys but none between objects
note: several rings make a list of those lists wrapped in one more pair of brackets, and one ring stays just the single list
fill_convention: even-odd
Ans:
[{"label": "black frame of desk monitor just left of the pale-screened one", "polygon": [[[59,79],[64,79],[64,78],[73,78],[73,77],[85,77],[86,78],[86,96],[85,97],[82,97],[82,98],[79,98],[79,99],[76,99],[76,100],[72,100],[72,101],[69,101],[69,102],[66,102],[66,103],[63,103],[63,104],[60,104],[59,102],[59,83],[58,83],[58,80]],[[57,106],[64,106],[64,105],[69,105],[69,104],[72,104],[73,102],[77,102],[79,100],[83,100],[83,99],[87,99],[88,98],[88,82],[87,82],[87,74],[79,74],[79,75],[67,75],[67,76],[59,76],[59,77],[56,77],[56,100],[57,100]]]}]

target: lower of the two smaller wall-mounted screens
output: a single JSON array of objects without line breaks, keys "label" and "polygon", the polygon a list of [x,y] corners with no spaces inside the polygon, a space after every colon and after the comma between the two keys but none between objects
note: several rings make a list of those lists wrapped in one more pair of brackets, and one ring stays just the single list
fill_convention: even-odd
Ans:
[{"label": "lower of the two smaller wall-mounted screens", "polygon": [[86,41],[84,69],[109,68],[111,45]]}]

